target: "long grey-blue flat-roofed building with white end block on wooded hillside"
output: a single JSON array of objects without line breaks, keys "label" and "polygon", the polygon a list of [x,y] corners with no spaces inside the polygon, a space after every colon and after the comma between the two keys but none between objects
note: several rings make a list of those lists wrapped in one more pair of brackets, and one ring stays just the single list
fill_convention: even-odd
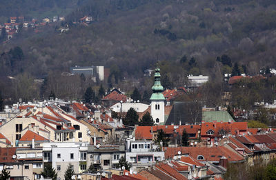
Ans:
[{"label": "long grey-blue flat-roofed building with white end block on wooded hillside", "polygon": [[104,68],[103,66],[75,66],[70,68],[72,74],[83,74],[86,77],[91,78],[93,81],[104,80]]}]

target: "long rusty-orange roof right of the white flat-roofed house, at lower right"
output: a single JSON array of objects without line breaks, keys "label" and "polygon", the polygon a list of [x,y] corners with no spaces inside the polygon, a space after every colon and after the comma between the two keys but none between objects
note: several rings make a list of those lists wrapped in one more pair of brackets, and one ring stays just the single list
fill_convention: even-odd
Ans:
[{"label": "long rusty-orange roof right of the white flat-roofed house, at lower right", "polygon": [[228,161],[244,161],[244,157],[242,155],[236,154],[231,150],[228,150],[224,146],[206,148],[206,147],[178,147],[178,148],[167,148],[164,147],[165,158],[171,159],[175,155],[177,155],[178,151],[181,154],[189,154],[190,157],[197,159],[198,155],[204,156],[203,160],[197,161],[219,161],[221,157],[226,157]]}]

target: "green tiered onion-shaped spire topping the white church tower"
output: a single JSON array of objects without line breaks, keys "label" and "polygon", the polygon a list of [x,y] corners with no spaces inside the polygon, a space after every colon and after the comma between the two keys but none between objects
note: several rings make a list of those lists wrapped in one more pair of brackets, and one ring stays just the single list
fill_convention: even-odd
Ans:
[{"label": "green tiered onion-shaped spire topping the white church tower", "polygon": [[164,95],[162,94],[164,88],[161,85],[161,74],[160,69],[155,69],[155,85],[152,86],[152,94],[150,100],[165,100]]}]

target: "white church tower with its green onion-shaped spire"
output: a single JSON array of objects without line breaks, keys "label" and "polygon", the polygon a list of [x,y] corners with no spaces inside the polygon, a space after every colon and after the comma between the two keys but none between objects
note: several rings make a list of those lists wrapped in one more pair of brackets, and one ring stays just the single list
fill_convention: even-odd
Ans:
[{"label": "white church tower with its green onion-shaped spire", "polygon": [[155,69],[155,84],[152,86],[152,94],[150,97],[150,114],[153,121],[156,124],[165,123],[165,98],[162,94],[164,88],[161,85],[161,74],[160,69]]}]

